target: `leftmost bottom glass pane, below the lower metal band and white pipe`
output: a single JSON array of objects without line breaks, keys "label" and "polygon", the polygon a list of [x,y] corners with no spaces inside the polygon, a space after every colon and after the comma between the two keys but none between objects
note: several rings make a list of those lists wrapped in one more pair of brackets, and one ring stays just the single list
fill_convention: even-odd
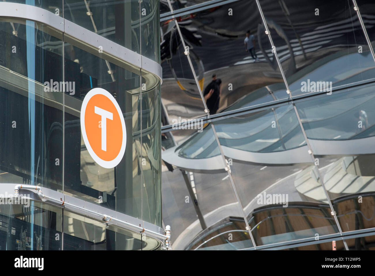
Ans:
[{"label": "leftmost bottom glass pane, below the lower metal band and white pipe", "polygon": [[61,250],[62,209],[24,199],[0,205],[0,250]]}]

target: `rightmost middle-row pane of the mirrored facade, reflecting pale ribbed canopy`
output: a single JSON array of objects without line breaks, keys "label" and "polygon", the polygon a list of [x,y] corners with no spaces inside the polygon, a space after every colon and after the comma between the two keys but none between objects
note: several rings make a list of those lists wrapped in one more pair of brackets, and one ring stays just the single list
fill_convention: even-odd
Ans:
[{"label": "rightmost middle-row pane of the mirrored facade, reflecting pale ribbed canopy", "polygon": [[363,86],[296,104],[343,231],[375,227],[374,99]]}]

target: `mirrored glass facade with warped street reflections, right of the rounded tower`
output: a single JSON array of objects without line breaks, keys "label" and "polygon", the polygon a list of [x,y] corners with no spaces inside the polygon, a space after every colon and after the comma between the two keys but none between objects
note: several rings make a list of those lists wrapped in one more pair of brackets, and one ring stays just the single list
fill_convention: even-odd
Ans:
[{"label": "mirrored glass facade with warped street reflections, right of the rounded tower", "polygon": [[187,2],[160,1],[172,248],[374,249],[373,1]]}]

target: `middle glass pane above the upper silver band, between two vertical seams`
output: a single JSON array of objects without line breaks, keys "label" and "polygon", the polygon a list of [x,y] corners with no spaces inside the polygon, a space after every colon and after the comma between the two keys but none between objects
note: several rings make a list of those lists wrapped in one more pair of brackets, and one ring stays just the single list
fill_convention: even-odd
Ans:
[{"label": "middle glass pane above the upper silver band, between two vertical seams", "polygon": [[64,0],[64,18],[141,53],[138,0]]}]

